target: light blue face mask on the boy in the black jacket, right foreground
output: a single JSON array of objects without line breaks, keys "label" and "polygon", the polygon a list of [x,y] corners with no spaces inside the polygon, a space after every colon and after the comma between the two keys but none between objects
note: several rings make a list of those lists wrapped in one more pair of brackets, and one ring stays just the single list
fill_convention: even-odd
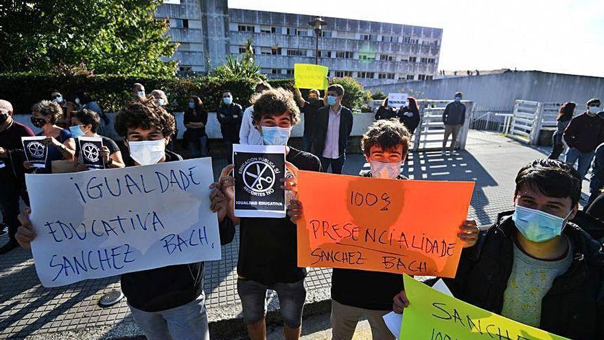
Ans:
[{"label": "light blue face mask on the boy in the black jacket, right foreground", "polygon": [[533,242],[546,242],[560,236],[562,229],[566,226],[566,218],[570,216],[572,210],[568,212],[565,218],[561,218],[541,210],[535,210],[516,205],[516,210],[512,215],[512,220],[516,224],[518,231],[527,240]]}]

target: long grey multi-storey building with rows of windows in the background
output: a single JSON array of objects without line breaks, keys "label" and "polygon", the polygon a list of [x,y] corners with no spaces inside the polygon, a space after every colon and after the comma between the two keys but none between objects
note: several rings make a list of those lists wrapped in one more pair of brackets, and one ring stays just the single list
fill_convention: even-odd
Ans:
[{"label": "long grey multi-storey building with rows of windows in the background", "polygon": [[[314,16],[229,9],[226,0],[165,3],[157,16],[170,18],[170,35],[181,43],[173,58],[183,70],[207,71],[208,65],[220,65],[227,53],[244,54],[249,40],[256,63],[269,78],[292,78],[294,63],[315,61],[316,36],[309,25]],[[323,20],[327,26],[318,38],[318,63],[329,67],[329,76],[351,76],[364,85],[437,76],[443,34],[439,28]]]}]

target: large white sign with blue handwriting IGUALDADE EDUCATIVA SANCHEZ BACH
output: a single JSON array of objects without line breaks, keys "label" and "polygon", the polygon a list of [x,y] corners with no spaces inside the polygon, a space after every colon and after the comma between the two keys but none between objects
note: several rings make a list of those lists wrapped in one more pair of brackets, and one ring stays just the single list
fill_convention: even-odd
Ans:
[{"label": "large white sign with blue handwriting IGUALDADE EDUCATIVA SANCHEZ BACH", "polygon": [[[26,174],[45,287],[220,260],[209,157],[69,174]],[[57,194],[60,199],[57,199]]]}]

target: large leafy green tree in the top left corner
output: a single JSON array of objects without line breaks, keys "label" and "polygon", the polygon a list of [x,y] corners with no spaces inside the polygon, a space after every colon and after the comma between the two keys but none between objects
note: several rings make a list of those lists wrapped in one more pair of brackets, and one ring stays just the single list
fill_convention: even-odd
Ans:
[{"label": "large leafy green tree in the top left corner", "polygon": [[[174,76],[177,45],[154,18],[162,0],[8,0],[0,7],[0,72],[85,67],[95,73]],[[0,5],[1,6],[1,5]]]}]

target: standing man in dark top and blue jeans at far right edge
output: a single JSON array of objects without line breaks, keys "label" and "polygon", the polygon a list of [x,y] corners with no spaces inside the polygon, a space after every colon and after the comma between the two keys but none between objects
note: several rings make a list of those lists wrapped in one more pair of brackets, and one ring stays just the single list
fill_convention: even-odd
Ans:
[{"label": "standing man in dark top and blue jeans at far right edge", "polygon": [[588,174],[594,151],[604,142],[604,120],[597,115],[600,111],[600,100],[590,99],[585,113],[572,118],[564,131],[564,141],[568,145],[566,163],[574,166],[581,178]]}]

